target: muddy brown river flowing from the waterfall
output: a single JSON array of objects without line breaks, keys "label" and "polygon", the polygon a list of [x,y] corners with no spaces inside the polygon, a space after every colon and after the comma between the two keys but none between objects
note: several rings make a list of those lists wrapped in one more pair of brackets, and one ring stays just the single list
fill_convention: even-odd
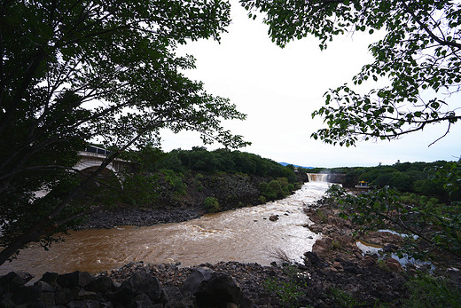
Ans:
[{"label": "muddy brown river flowing from the waterfall", "polygon": [[[220,261],[270,265],[274,254],[284,251],[294,261],[312,249],[318,235],[302,209],[320,199],[328,184],[309,182],[293,195],[256,207],[210,214],[178,224],[120,226],[82,230],[54,243],[49,251],[33,244],[12,263],[0,266],[0,274],[31,272],[103,272],[129,262],[176,263],[184,266]],[[269,220],[278,215],[278,220]]]}]

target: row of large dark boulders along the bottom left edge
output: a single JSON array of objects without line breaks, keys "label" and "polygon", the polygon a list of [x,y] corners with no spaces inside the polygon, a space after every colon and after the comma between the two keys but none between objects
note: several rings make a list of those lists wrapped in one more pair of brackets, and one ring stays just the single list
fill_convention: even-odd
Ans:
[{"label": "row of large dark boulders along the bottom left edge", "polygon": [[[176,268],[177,269],[177,268]],[[251,307],[238,282],[226,272],[191,270],[181,288],[162,286],[143,266],[128,279],[88,272],[46,272],[34,284],[27,272],[0,277],[1,307]]]}]

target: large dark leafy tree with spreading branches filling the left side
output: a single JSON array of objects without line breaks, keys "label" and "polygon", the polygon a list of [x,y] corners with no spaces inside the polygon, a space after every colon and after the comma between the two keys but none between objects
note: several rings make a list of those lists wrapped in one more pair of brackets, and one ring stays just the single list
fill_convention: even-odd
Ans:
[{"label": "large dark leafy tree with spreading branches filling the left side", "polygon": [[[178,43],[219,40],[229,22],[223,0],[0,4],[0,265],[66,230],[90,208],[75,202],[83,187],[130,146],[158,145],[160,129],[246,145],[221,125],[245,115],[186,78],[194,59],[175,54]],[[72,166],[90,141],[111,154],[81,180]],[[50,193],[38,198],[40,188]]]}]

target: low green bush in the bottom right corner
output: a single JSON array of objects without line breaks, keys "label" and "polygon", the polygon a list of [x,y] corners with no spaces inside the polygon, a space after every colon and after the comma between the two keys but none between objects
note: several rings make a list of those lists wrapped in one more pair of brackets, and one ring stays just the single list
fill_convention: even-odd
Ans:
[{"label": "low green bush in the bottom right corner", "polygon": [[407,287],[410,298],[404,307],[461,307],[461,292],[441,277],[418,275],[407,282]]}]

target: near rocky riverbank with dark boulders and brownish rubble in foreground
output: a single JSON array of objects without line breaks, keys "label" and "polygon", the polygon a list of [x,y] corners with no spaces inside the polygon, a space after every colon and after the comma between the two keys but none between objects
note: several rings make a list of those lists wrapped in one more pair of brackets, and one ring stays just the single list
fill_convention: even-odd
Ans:
[{"label": "near rocky riverbank with dark boulders and brownish rubble in foreground", "polygon": [[[321,233],[301,264],[278,253],[271,266],[225,262],[192,267],[136,263],[92,276],[47,273],[34,285],[29,275],[0,277],[0,306],[36,307],[400,307],[410,296],[407,282],[425,266],[402,266],[390,253],[402,238],[394,233],[353,235],[356,227],[322,204],[305,209]],[[121,214],[122,215],[122,214]],[[386,257],[365,254],[360,240],[382,247]],[[437,269],[451,275],[457,268]],[[458,288],[458,287],[457,287]],[[456,306],[456,305],[455,305]]]}]

